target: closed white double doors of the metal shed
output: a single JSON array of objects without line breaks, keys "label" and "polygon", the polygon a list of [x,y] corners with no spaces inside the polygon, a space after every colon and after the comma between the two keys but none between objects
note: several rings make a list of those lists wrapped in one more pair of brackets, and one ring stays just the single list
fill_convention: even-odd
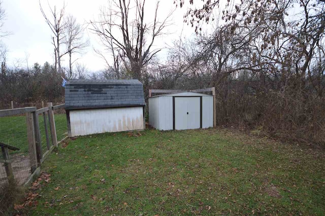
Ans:
[{"label": "closed white double doors of the metal shed", "polygon": [[175,97],[175,129],[201,127],[200,97]]}]

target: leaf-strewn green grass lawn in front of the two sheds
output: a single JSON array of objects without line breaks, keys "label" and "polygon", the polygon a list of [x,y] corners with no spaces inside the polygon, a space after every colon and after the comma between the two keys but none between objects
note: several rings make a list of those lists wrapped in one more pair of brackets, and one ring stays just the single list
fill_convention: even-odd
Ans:
[{"label": "leaf-strewn green grass lawn in front of the two sheds", "polygon": [[59,146],[28,214],[324,214],[324,152],[220,129],[141,133]]}]

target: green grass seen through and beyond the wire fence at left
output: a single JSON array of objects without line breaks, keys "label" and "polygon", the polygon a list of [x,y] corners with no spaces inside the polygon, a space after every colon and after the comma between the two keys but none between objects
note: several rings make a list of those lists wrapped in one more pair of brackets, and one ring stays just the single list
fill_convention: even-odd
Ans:
[{"label": "green grass seen through and beyond the wire fence at left", "polygon": [[[67,117],[66,114],[54,115],[56,136],[58,141],[67,136]],[[48,120],[48,119],[47,119]],[[47,121],[48,129],[49,122]],[[42,149],[47,150],[45,124],[42,115],[39,115],[39,125],[42,139]],[[50,135],[50,132],[49,132]],[[50,141],[51,141],[51,137]],[[23,116],[10,116],[0,118],[0,142],[19,148],[19,151],[12,153],[28,154],[28,141],[26,130],[26,117]]]}]

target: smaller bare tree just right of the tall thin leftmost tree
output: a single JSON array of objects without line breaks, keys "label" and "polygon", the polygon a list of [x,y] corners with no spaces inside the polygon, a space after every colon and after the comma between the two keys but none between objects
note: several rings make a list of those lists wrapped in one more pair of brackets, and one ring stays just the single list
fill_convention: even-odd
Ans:
[{"label": "smaller bare tree just right of the tall thin leftmost tree", "polygon": [[77,23],[76,18],[72,15],[66,18],[65,26],[63,43],[69,54],[69,76],[72,78],[72,64],[77,60],[72,61],[72,54],[81,53],[84,48],[89,46],[89,40],[84,40],[84,28]]}]

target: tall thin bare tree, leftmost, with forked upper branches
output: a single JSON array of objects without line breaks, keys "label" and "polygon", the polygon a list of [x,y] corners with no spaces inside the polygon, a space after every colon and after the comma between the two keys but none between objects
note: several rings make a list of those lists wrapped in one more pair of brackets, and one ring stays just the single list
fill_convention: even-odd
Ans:
[{"label": "tall thin bare tree, leftmost, with forked upper branches", "polygon": [[63,4],[62,8],[60,10],[56,9],[56,6],[52,7],[48,5],[50,9],[50,15],[47,16],[46,13],[44,12],[41,1],[40,3],[40,9],[41,12],[45,18],[46,23],[50,27],[51,31],[54,34],[54,37],[52,37],[52,44],[54,46],[54,55],[55,55],[55,69],[56,65],[58,66],[58,71],[61,74],[62,73],[62,68],[61,68],[61,57],[67,53],[61,54],[60,52],[60,45],[62,44],[62,40],[64,38],[64,29],[65,29],[65,23],[63,22],[63,17],[64,17],[64,11],[66,9],[66,6]]}]

